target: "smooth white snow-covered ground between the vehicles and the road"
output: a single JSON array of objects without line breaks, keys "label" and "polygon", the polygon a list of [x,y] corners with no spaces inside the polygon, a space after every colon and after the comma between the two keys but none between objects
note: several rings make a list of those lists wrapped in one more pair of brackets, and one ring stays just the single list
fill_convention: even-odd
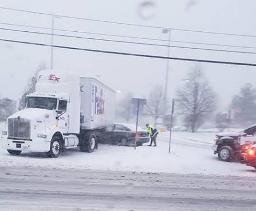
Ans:
[{"label": "smooth white snow-covered ground between the vehicles and the road", "polygon": [[71,149],[59,158],[47,158],[43,153],[11,156],[6,150],[0,149],[0,166],[255,176],[256,171],[252,167],[219,161],[211,150],[214,136],[214,132],[173,132],[170,154],[169,132],[158,135],[157,147],[145,144],[134,150],[131,147],[101,144],[93,153]]}]

